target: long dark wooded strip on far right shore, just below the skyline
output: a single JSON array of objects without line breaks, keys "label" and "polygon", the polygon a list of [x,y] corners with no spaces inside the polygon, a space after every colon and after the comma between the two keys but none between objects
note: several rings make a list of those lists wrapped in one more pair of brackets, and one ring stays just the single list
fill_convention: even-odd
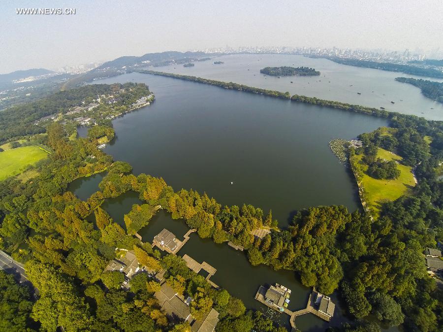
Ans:
[{"label": "long dark wooded strip on far right shore, just below the skyline", "polygon": [[322,57],[328,60],[334,61],[338,64],[347,65],[347,66],[356,66],[356,67],[366,67],[366,68],[374,68],[381,69],[387,71],[398,71],[404,72],[406,74],[418,75],[418,76],[428,76],[428,77],[437,77],[443,78],[443,72],[437,69],[432,68],[422,68],[413,65],[400,65],[393,64],[389,62],[376,62],[369,60],[357,60],[357,59],[343,59],[337,57]]}]

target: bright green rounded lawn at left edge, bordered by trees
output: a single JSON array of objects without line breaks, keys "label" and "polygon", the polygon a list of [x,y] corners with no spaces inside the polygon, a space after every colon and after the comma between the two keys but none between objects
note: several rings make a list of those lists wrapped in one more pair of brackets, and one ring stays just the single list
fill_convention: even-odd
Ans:
[{"label": "bright green rounded lawn at left edge, bordered by trees", "polygon": [[0,181],[20,174],[28,165],[34,165],[48,154],[37,146],[23,146],[0,152]]}]

